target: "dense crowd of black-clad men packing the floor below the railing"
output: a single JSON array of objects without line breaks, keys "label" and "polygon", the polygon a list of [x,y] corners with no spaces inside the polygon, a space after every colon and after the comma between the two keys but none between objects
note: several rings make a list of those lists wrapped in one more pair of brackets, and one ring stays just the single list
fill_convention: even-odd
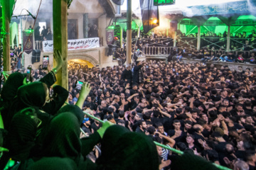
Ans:
[{"label": "dense crowd of black-clad men packing the floor below the railing", "polygon": [[[210,162],[254,169],[255,77],[256,67],[231,71],[201,63],[150,61],[102,69],[75,64],[69,68],[68,101],[78,102],[76,81],[86,81],[92,91],[83,111]],[[89,119],[82,128],[90,134],[100,126]],[[161,148],[159,155],[165,164],[176,156]]]}]

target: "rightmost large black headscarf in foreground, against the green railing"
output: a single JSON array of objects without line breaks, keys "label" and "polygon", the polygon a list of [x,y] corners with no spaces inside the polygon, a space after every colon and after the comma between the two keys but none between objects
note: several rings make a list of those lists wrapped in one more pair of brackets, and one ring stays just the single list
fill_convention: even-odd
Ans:
[{"label": "rightmost large black headscarf in foreground, against the green railing", "polygon": [[124,132],[114,146],[110,147],[112,151],[106,154],[103,154],[102,151],[102,156],[104,155],[104,157],[101,157],[101,162],[97,162],[106,170],[159,169],[159,156],[156,152],[156,145],[154,145],[150,137],[144,134]]}]

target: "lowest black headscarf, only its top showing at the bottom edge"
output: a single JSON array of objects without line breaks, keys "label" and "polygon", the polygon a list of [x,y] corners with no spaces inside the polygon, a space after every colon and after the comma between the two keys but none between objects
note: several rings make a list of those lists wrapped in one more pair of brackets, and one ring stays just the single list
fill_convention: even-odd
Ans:
[{"label": "lowest black headscarf, only its top showing at the bottom edge", "polygon": [[72,159],[60,157],[43,157],[28,166],[28,170],[76,170],[78,167]]}]

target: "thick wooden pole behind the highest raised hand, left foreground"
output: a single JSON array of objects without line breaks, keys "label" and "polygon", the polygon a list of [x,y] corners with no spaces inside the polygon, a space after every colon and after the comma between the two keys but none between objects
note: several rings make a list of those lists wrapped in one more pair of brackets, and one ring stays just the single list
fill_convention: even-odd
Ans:
[{"label": "thick wooden pole behind the highest raised hand, left foreground", "polygon": [[57,84],[68,90],[68,0],[53,0],[53,49],[59,50],[64,60]]}]

